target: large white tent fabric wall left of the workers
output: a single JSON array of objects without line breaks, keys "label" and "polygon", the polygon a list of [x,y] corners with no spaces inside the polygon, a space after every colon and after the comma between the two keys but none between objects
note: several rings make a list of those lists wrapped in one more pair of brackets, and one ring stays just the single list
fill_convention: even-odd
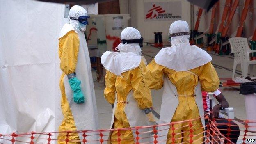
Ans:
[{"label": "large white tent fabric wall left of the workers", "polygon": [[55,131],[63,24],[63,4],[0,0],[1,134]]}]

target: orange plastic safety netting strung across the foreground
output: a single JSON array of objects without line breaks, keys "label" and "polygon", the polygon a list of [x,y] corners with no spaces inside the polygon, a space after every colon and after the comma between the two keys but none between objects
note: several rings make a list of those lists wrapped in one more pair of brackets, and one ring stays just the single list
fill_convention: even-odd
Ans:
[{"label": "orange plastic safety netting strung across the foreground", "polygon": [[[194,121],[198,119],[134,128],[0,134],[0,144],[107,144],[108,142],[115,144],[165,144],[167,141],[168,144],[234,144],[234,140],[236,141],[237,138],[237,142],[240,144],[248,143],[248,139],[249,142],[253,142],[254,139],[254,143],[256,143],[256,131],[252,131],[256,129],[256,121],[208,119],[206,126],[195,128]],[[145,131],[145,129],[149,130]],[[132,131],[133,138],[123,138],[126,133],[122,132],[129,130]],[[110,140],[109,133],[114,131],[117,132],[118,137]],[[161,131],[166,131],[166,135],[160,135]],[[153,135],[149,137],[143,136],[152,132]],[[57,139],[57,135],[64,135],[65,139]],[[161,139],[166,136],[168,139]]]}]

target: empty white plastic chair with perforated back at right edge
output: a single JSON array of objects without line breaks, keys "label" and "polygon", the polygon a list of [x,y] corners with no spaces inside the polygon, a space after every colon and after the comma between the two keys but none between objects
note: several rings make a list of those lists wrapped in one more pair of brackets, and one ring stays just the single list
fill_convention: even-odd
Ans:
[{"label": "empty white plastic chair with perforated back at right edge", "polygon": [[[243,37],[233,37],[229,39],[231,43],[231,53],[234,50],[234,53],[238,53],[237,57],[240,57],[242,76],[248,76],[248,66],[250,66],[250,74],[253,73],[253,64],[256,64],[256,60],[250,61],[250,53],[256,52],[256,50],[251,50],[247,38]],[[235,64],[235,62],[234,62]],[[234,69],[233,69],[234,73]],[[233,78],[233,77],[232,77]]]}]

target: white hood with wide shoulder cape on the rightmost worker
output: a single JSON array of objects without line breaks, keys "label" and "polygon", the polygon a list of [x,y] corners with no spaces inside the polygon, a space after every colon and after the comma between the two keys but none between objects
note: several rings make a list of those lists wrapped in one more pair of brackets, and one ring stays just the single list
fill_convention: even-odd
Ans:
[{"label": "white hood with wide shoulder cape on the rightmost worker", "polygon": [[206,51],[195,45],[190,46],[187,32],[189,27],[186,21],[172,23],[170,34],[175,36],[171,37],[171,47],[162,48],[155,56],[155,62],[175,71],[188,71],[210,62],[212,57]]}]

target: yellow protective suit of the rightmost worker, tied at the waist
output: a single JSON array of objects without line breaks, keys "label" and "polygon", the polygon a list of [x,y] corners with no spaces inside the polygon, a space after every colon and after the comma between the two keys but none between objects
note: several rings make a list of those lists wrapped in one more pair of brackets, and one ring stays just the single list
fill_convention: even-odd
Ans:
[{"label": "yellow protective suit of the rightmost worker, tied at the waist", "polygon": [[[203,91],[215,91],[215,89],[219,86],[219,78],[218,75],[210,62],[207,64],[197,67],[195,69],[189,70],[192,73],[199,76],[197,77],[189,72],[185,71],[178,71],[168,69],[165,66],[161,66],[155,63],[153,59],[152,62],[146,67],[146,82],[149,85],[150,89],[161,89],[163,87],[163,75],[167,75],[171,83],[173,83],[178,91],[178,100],[179,104],[176,108],[176,112],[171,120],[174,121],[184,121],[188,119],[197,119],[199,118],[199,112],[197,108],[197,104],[195,103],[194,99],[194,89],[197,86],[197,82],[201,82],[201,89]],[[170,104],[171,105],[171,104]],[[177,135],[175,138],[184,137],[183,142],[189,142],[190,140],[190,127],[186,126],[188,123],[179,123],[175,124],[176,129],[174,133]],[[201,124],[201,119],[197,119],[197,121],[193,121],[193,132],[194,137],[193,139],[199,139],[203,137],[203,126]],[[186,126],[181,128],[182,126]],[[181,136],[181,131],[186,131]],[[167,144],[171,144],[171,135],[172,131],[171,128],[168,132],[167,137]],[[200,133],[200,134],[199,134]],[[198,135],[199,134],[199,135]],[[196,136],[197,135],[197,136]],[[181,143],[182,139],[177,139],[175,143]],[[203,142],[203,138],[197,142],[197,144]]]}]

